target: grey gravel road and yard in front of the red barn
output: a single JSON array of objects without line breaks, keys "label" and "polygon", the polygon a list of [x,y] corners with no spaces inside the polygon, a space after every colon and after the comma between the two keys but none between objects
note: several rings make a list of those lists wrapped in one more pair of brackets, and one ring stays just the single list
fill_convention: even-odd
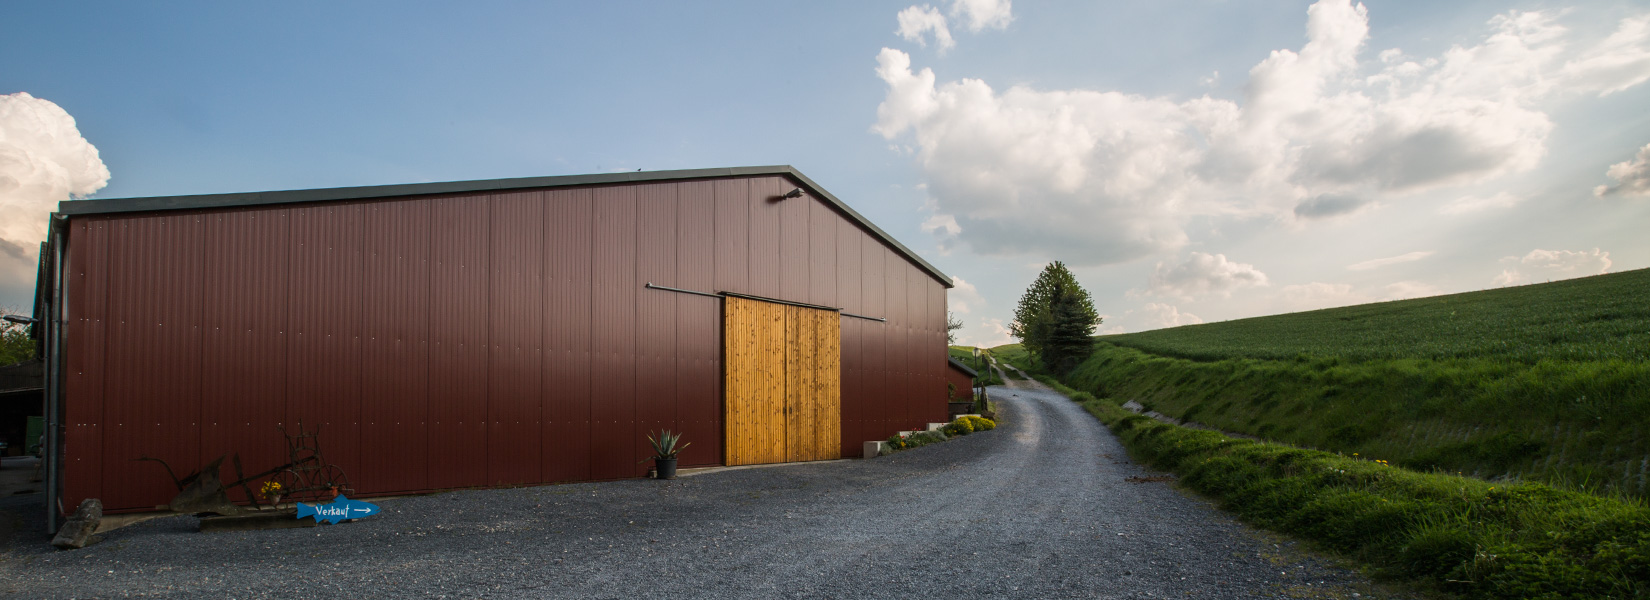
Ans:
[{"label": "grey gravel road and yard in front of the red barn", "polygon": [[[1167,483],[1129,481],[1157,473],[1076,404],[1013,384],[993,389],[997,430],[876,460],[386,499],[312,529],[201,534],[178,516],[74,552],[13,531],[0,595],[1383,595]],[[0,501],[0,518],[31,526],[31,498]]]}]

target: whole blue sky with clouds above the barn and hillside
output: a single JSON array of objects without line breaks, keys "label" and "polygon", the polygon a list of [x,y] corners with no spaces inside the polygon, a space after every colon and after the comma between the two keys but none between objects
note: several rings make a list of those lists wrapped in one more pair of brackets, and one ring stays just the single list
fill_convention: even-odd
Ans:
[{"label": "whole blue sky with clouds above the barn and hillside", "polygon": [[[13,2],[0,178],[23,183],[0,180],[0,234],[28,249],[86,193],[789,163],[960,277],[964,341],[988,345],[1054,259],[1112,331],[1642,269],[1645,15]],[[12,262],[0,302],[25,305]]]}]

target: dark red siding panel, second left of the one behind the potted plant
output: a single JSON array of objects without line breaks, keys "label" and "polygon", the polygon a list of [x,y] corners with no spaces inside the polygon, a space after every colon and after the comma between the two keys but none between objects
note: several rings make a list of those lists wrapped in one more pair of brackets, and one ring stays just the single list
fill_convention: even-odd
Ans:
[{"label": "dark red siding panel, second left of the one behind the potted plant", "polygon": [[591,190],[544,193],[544,481],[591,478]]}]

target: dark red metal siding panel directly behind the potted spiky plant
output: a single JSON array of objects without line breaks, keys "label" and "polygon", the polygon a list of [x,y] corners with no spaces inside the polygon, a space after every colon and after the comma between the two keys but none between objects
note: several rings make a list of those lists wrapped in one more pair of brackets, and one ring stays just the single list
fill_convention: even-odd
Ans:
[{"label": "dark red metal siding panel directly behind the potted spiky plant", "polygon": [[[680,293],[647,290],[680,287],[676,277],[676,186],[635,186],[635,430],[629,435],[637,458],[652,455],[647,435],[680,432],[676,425],[676,303]],[[639,465],[644,471],[647,465]]]}]

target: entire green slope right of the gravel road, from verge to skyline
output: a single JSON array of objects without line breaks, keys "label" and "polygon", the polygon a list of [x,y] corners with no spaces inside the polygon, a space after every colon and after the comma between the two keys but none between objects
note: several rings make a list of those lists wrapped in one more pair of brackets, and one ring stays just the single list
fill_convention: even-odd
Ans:
[{"label": "entire green slope right of the gravel road, from verge to skyline", "polygon": [[[1381,575],[1483,598],[1643,598],[1645,297],[1637,270],[1104,336],[1066,377],[1081,391],[1040,379],[1135,458]],[[1294,445],[1160,424],[1127,399]]]}]

